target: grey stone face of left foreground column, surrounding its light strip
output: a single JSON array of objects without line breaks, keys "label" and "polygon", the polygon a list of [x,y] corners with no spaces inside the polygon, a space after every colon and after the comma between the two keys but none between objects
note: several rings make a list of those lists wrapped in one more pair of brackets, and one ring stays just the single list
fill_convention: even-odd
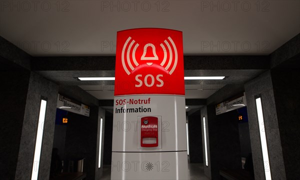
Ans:
[{"label": "grey stone face of left foreground column, surrounding its light strip", "polygon": [[44,127],[42,128],[43,137],[38,178],[49,178],[57,92],[57,84],[34,72],[30,73],[14,179],[29,179],[31,177],[36,132],[37,128],[42,128],[37,127],[41,96],[47,98],[47,106]]}]

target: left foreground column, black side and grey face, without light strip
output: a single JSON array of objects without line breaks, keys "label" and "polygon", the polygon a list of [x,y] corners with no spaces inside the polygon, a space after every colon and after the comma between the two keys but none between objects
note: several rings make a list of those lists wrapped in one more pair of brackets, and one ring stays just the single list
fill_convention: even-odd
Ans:
[{"label": "left foreground column, black side and grey face, without light strip", "polygon": [[[29,70],[2,71],[6,77],[1,90],[4,121],[1,128],[2,179],[30,179],[35,138],[38,128],[40,98],[47,98],[43,127],[39,179],[48,179],[53,143],[58,87],[55,83]],[[3,97],[3,98],[2,98]],[[5,155],[4,155],[5,154]]]}]

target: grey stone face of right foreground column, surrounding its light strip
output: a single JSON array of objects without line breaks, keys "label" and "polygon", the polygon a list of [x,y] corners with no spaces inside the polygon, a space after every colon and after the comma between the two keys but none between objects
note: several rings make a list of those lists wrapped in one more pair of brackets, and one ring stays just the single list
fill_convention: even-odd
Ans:
[{"label": "grey stone face of right foreground column, surrounding its light strip", "polygon": [[261,94],[264,127],[272,179],[286,179],[270,71],[266,71],[245,83],[255,179],[265,179],[256,104],[254,99],[254,95],[257,94]]}]

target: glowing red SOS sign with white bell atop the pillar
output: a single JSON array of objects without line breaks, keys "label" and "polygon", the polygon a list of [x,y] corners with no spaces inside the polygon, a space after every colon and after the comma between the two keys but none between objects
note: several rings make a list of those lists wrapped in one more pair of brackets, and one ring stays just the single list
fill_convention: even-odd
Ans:
[{"label": "glowing red SOS sign with white bell atop the pillar", "polygon": [[181,31],[128,29],[116,41],[114,95],[184,95]]}]

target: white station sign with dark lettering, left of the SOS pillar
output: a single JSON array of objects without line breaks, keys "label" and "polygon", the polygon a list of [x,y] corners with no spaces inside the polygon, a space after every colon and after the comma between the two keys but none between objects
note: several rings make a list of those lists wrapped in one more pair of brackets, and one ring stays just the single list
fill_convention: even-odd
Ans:
[{"label": "white station sign with dark lettering, left of the SOS pillar", "polygon": [[89,116],[89,106],[65,97],[61,94],[57,96],[57,108]]}]

